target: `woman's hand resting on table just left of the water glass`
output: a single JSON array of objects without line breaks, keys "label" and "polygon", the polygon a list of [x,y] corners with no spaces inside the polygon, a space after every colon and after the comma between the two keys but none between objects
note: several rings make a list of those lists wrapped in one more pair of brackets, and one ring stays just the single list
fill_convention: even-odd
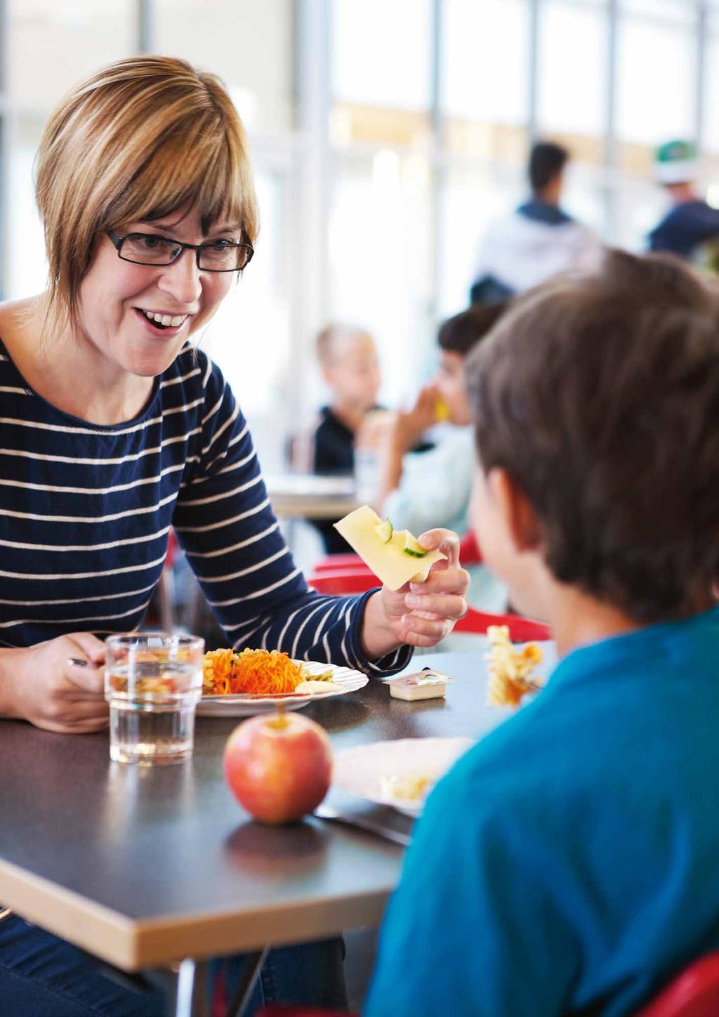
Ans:
[{"label": "woman's hand resting on table just left of the water glass", "polygon": [[[86,660],[80,667],[70,659]],[[63,733],[108,725],[103,692],[105,645],[89,633],[59,636],[27,649],[0,653],[0,702],[6,717]]]}]

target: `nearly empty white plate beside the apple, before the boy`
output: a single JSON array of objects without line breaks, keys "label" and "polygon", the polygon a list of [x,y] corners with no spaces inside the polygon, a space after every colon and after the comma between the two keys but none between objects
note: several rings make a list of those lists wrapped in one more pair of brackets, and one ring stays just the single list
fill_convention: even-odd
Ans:
[{"label": "nearly empty white plate beside the apple, before the boy", "polygon": [[[343,791],[419,816],[432,785],[472,744],[471,738],[401,738],[355,745],[335,757],[333,783]],[[431,783],[421,800],[399,798],[384,786],[387,778],[425,774]]]}]

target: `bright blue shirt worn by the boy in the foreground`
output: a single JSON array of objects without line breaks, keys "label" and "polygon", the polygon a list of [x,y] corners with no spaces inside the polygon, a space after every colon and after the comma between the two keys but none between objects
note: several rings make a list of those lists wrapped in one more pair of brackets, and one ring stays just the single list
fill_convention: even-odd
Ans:
[{"label": "bright blue shirt worn by the boy in the foreground", "polygon": [[716,609],[574,651],[471,749],[418,823],[368,1017],[618,1017],[717,949],[718,678]]}]

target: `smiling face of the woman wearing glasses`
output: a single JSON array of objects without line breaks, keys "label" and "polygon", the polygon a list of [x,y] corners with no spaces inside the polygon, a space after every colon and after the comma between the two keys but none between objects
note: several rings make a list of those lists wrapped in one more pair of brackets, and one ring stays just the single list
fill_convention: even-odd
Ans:
[{"label": "smiling face of the woman wearing glasses", "polygon": [[[242,239],[237,224],[223,221],[203,234],[194,208],[153,222],[123,223],[117,233],[121,237],[152,233],[190,244]],[[103,234],[80,284],[76,338],[118,373],[157,376],[175,360],[188,337],[209,321],[234,278],[232,272],[202,272],[191,250],[168,265],[124,261]],[[162,327],[148,314],[169,317],[171,323]]]}]

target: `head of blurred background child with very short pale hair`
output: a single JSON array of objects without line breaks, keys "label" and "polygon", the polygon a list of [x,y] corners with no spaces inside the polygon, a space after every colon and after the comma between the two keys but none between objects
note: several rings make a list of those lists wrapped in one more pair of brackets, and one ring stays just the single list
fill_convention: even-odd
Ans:
[{"label": "head of blurred background child with very short pale hair", "polygon": [[333,402],[364,412],[376,405],[381,377],[374,340],[364,328],[328,324],[317,336],[317,359]]}]

